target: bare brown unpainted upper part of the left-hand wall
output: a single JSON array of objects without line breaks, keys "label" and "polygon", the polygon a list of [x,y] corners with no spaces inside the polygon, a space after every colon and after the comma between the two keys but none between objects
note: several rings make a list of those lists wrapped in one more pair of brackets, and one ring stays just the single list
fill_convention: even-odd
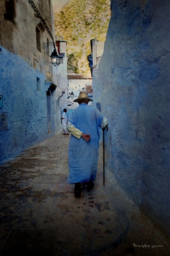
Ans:
[{"label": "bare brown unpainted upper part of the left-hand wall", "polygon": [[[41,2],[34,0],[33,2],[42,17],[46,19],[50,32],[54,34],[52,3],[50,4],[50,1],[46,0]],[[4,15],[5,1],[1,1],[1,45],[10,52],[20,55],[30,66],[43,73],[46,80],[52,80],[52,66],[49,64],[50,57],[46,54],[46,49],[44,49],[44,43],[47,43],[47,38],[49,42],[52,41],[52,38],[42,25],[40,18],[35,15],[32,6],[28,1],[15,1],[15,23],[4,20]],[[36,26],[41,31],[41,51],[38,51],[36,48]],[[51,53],[53,46],[50,45],[49,48]]]}]

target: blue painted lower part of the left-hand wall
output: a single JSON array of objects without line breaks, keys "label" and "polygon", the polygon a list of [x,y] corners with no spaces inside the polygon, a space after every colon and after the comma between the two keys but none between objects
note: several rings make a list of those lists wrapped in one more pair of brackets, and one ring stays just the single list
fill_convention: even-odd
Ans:
[{"label": "blue painted lower part of the left-hand wall", "polygon": [[[37,90],[37,77],[39,90]],[[51,133],[47,126],[47,95],[44,76],[19,55],[2,48],[0,55],[1,113],[7,113],[7,130],[0,132],[0,162],[3,163],[56,132],[53,95]]]}]

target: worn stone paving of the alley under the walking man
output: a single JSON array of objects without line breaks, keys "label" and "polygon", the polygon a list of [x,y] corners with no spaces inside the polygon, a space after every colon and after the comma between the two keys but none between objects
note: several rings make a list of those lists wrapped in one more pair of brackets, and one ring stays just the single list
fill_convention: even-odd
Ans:
[{"label": "worn stone paving of the alley under the walking man", "polygon": [[102,145],[94,189],[74,197],[67,184],[69,139],[58,134],[0,166],[0,255],[13,230],[55,230],[52,256],[170,255],[168,239],[113,172],[106,170],[103,186]]}]

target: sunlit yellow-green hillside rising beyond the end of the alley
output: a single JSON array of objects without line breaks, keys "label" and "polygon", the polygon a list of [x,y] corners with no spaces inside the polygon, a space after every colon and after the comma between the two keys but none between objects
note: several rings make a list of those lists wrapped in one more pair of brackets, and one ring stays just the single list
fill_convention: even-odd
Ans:
[{"label": "sunlit yellow-green hillside rising beyond the end of the alley", "polygon": [[67,41],[68,73],[90,76],[90,40],[105,41],[110,0],[72,0],[55,13],[55,34]]}]

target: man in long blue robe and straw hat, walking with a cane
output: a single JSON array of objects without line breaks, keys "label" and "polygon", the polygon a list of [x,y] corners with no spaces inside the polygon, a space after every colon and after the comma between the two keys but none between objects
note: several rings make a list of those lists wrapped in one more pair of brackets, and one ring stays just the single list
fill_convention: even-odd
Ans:
[{"label": "man in long blue robe and straw hat, walking with a cane", "polygon": [[106,129],[108,122],[96,108],[88,104],[90,99],[80,91],[79,107],[73,110],[67,127],[72,134],[69,143],[69,177],[67,182],[75,183],[75,196],[81,196],[81,182],[87,183],[87,191],[94,187],[97,174],[99,128]]}]

